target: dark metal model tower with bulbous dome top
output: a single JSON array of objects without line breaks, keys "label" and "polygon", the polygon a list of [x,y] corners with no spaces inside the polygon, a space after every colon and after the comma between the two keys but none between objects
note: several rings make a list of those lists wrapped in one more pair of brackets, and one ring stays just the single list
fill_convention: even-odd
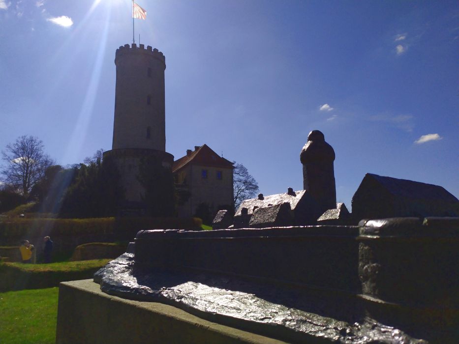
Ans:
[{"label": "dark metal model tower with bulbous dome top", "polygon": [[337,207],[335,185],[335,151],[325,142],[319,130],[312,130],[307,136],[307,143],[300,153],[303,164],[303,187],[314,198],[323,213]]}]

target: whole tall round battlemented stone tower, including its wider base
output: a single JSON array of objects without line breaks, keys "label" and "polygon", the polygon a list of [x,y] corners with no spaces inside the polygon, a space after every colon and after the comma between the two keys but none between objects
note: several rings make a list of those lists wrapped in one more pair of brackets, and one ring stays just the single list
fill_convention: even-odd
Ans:
[{"label": "whole tall round battlemented stone tower, including its wider base", "polygon": [[141,210],[145,188],[138,175],[142,162],[159,159],[169,171],[174,162],[174,156],[166,152],[166,62],[163,53],[151,46],[126,44],[117,49],[115,65],[113,144],[104,159],[113,159],[121,174],[127,201],[122,207]]}]

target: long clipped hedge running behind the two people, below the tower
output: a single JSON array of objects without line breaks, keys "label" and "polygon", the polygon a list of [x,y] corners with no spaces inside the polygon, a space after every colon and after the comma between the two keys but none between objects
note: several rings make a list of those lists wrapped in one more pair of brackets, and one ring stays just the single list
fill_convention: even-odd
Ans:
[{"label": "long clipped hedge running behind the two people, below the tower", "polygon": [[[33,237],[46,232],[56,236],[121,233],[141,229],[191,229],[199,230],[198,218],[94,218],[94,219],[21,219],[9,218],[0,222],[0,242],[9,238]],[[8,241],[8,240],[6,240]]]}]

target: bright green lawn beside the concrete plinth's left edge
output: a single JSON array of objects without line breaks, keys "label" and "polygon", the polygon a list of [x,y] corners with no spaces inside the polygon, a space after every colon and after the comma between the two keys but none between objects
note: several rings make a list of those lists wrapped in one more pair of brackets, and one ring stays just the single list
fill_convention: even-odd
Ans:
[{"label": "bright green lawn beside the concrete plinth's left edge", "polygon": [[58,287],[0,293],[0,343],[56,341]]}]

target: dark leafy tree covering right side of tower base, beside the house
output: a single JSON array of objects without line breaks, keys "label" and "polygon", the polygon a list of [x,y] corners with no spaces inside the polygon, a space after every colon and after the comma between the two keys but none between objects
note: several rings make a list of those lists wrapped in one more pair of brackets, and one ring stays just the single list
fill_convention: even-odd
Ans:
[{"label": "dark leafy tree covering right side of tower base, beside the house", "polygon": [[145,188],[142,200],[149,216],[175,215],[174,177],[170,169],[162,166],[160,159],[156,157],[141,159],[137,179]]}]

